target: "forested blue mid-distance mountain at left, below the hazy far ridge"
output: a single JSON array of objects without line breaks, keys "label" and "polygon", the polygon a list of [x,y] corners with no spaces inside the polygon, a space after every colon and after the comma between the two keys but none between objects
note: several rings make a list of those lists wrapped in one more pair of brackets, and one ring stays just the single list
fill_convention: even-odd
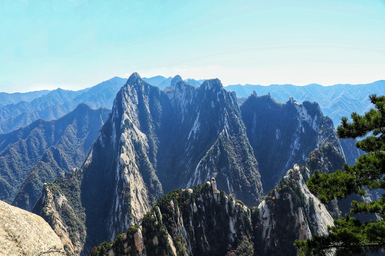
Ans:
[{"label": "forested blue mid-distance mountain at left, below the hazy far ridge", "polygon": [[[105,108],[92,110],[80,104],[58,120],[39,119],[0,135],[0,198],[12,202],[27,178],[23,195],[18,194],[15,204],[30,210],[41,194],[42,183],[52,182],[60,173],[82,164],[108,113]],[[48,166],[54,162],[57,166]]]}]

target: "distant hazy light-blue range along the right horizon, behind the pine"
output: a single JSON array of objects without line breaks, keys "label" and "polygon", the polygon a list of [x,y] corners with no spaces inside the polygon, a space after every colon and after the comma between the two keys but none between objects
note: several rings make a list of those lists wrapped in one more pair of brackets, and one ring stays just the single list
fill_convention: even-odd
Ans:
[{"label": "distant hazy light-blue range along the right horizon, behind the pine", "polygon": [[350,116],[352,112],[363,114],[372,104],[369,95],[385,94],[385,80],[375,81],[365,85],[333,85],[322,86],[310,84],[305,86],[295,85],[229,85],[228,91],[235,91],[238,97],[248,97],[256,91],[257,95],[267,95],[276,101],[285,103],[290,96],[298,102],[317,102],[325,116],[329,116],[335,126],[340,123],[341,116]]}]

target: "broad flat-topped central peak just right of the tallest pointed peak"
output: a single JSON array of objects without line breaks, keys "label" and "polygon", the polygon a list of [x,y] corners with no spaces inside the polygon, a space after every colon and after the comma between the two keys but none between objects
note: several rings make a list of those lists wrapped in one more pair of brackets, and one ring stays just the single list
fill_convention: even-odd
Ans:
[{"label": "broad flat-topped central peak just right of the tallest pointed peak", "polygon": [[164,190],[192,187],[214,177],[219,189],[257,205],[262,194],[258,163],[236,96],[218,79],[206,80],[199,88],[179,81],[167,95],[174,120],[159,137],[157,155]]}]

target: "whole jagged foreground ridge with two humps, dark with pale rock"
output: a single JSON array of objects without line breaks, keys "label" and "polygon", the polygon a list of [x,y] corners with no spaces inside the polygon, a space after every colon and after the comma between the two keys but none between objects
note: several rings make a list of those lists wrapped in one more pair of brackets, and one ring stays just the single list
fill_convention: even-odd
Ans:
[{"label": "whole jagged foreground ridge with two humps, dark with pale rock", "polygon": [[95,246],[91,256],[294,256],[295,239],[326,234],[333,225],[305,184],[309,173],[295,165],[251,208],[218,191],[214,178],[193,189],[174,190],[157,201],[140,225]]}]

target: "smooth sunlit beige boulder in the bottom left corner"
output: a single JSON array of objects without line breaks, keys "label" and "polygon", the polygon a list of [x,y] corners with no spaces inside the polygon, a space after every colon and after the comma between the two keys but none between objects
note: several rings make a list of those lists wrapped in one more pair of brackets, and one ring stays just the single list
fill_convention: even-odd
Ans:
[{"label": "smooth sunlit beige boulder in the bottom left corner", "polygon": [[2,255],[32,255],[63,244],[40,216],[0,201],[0,251]]}]

